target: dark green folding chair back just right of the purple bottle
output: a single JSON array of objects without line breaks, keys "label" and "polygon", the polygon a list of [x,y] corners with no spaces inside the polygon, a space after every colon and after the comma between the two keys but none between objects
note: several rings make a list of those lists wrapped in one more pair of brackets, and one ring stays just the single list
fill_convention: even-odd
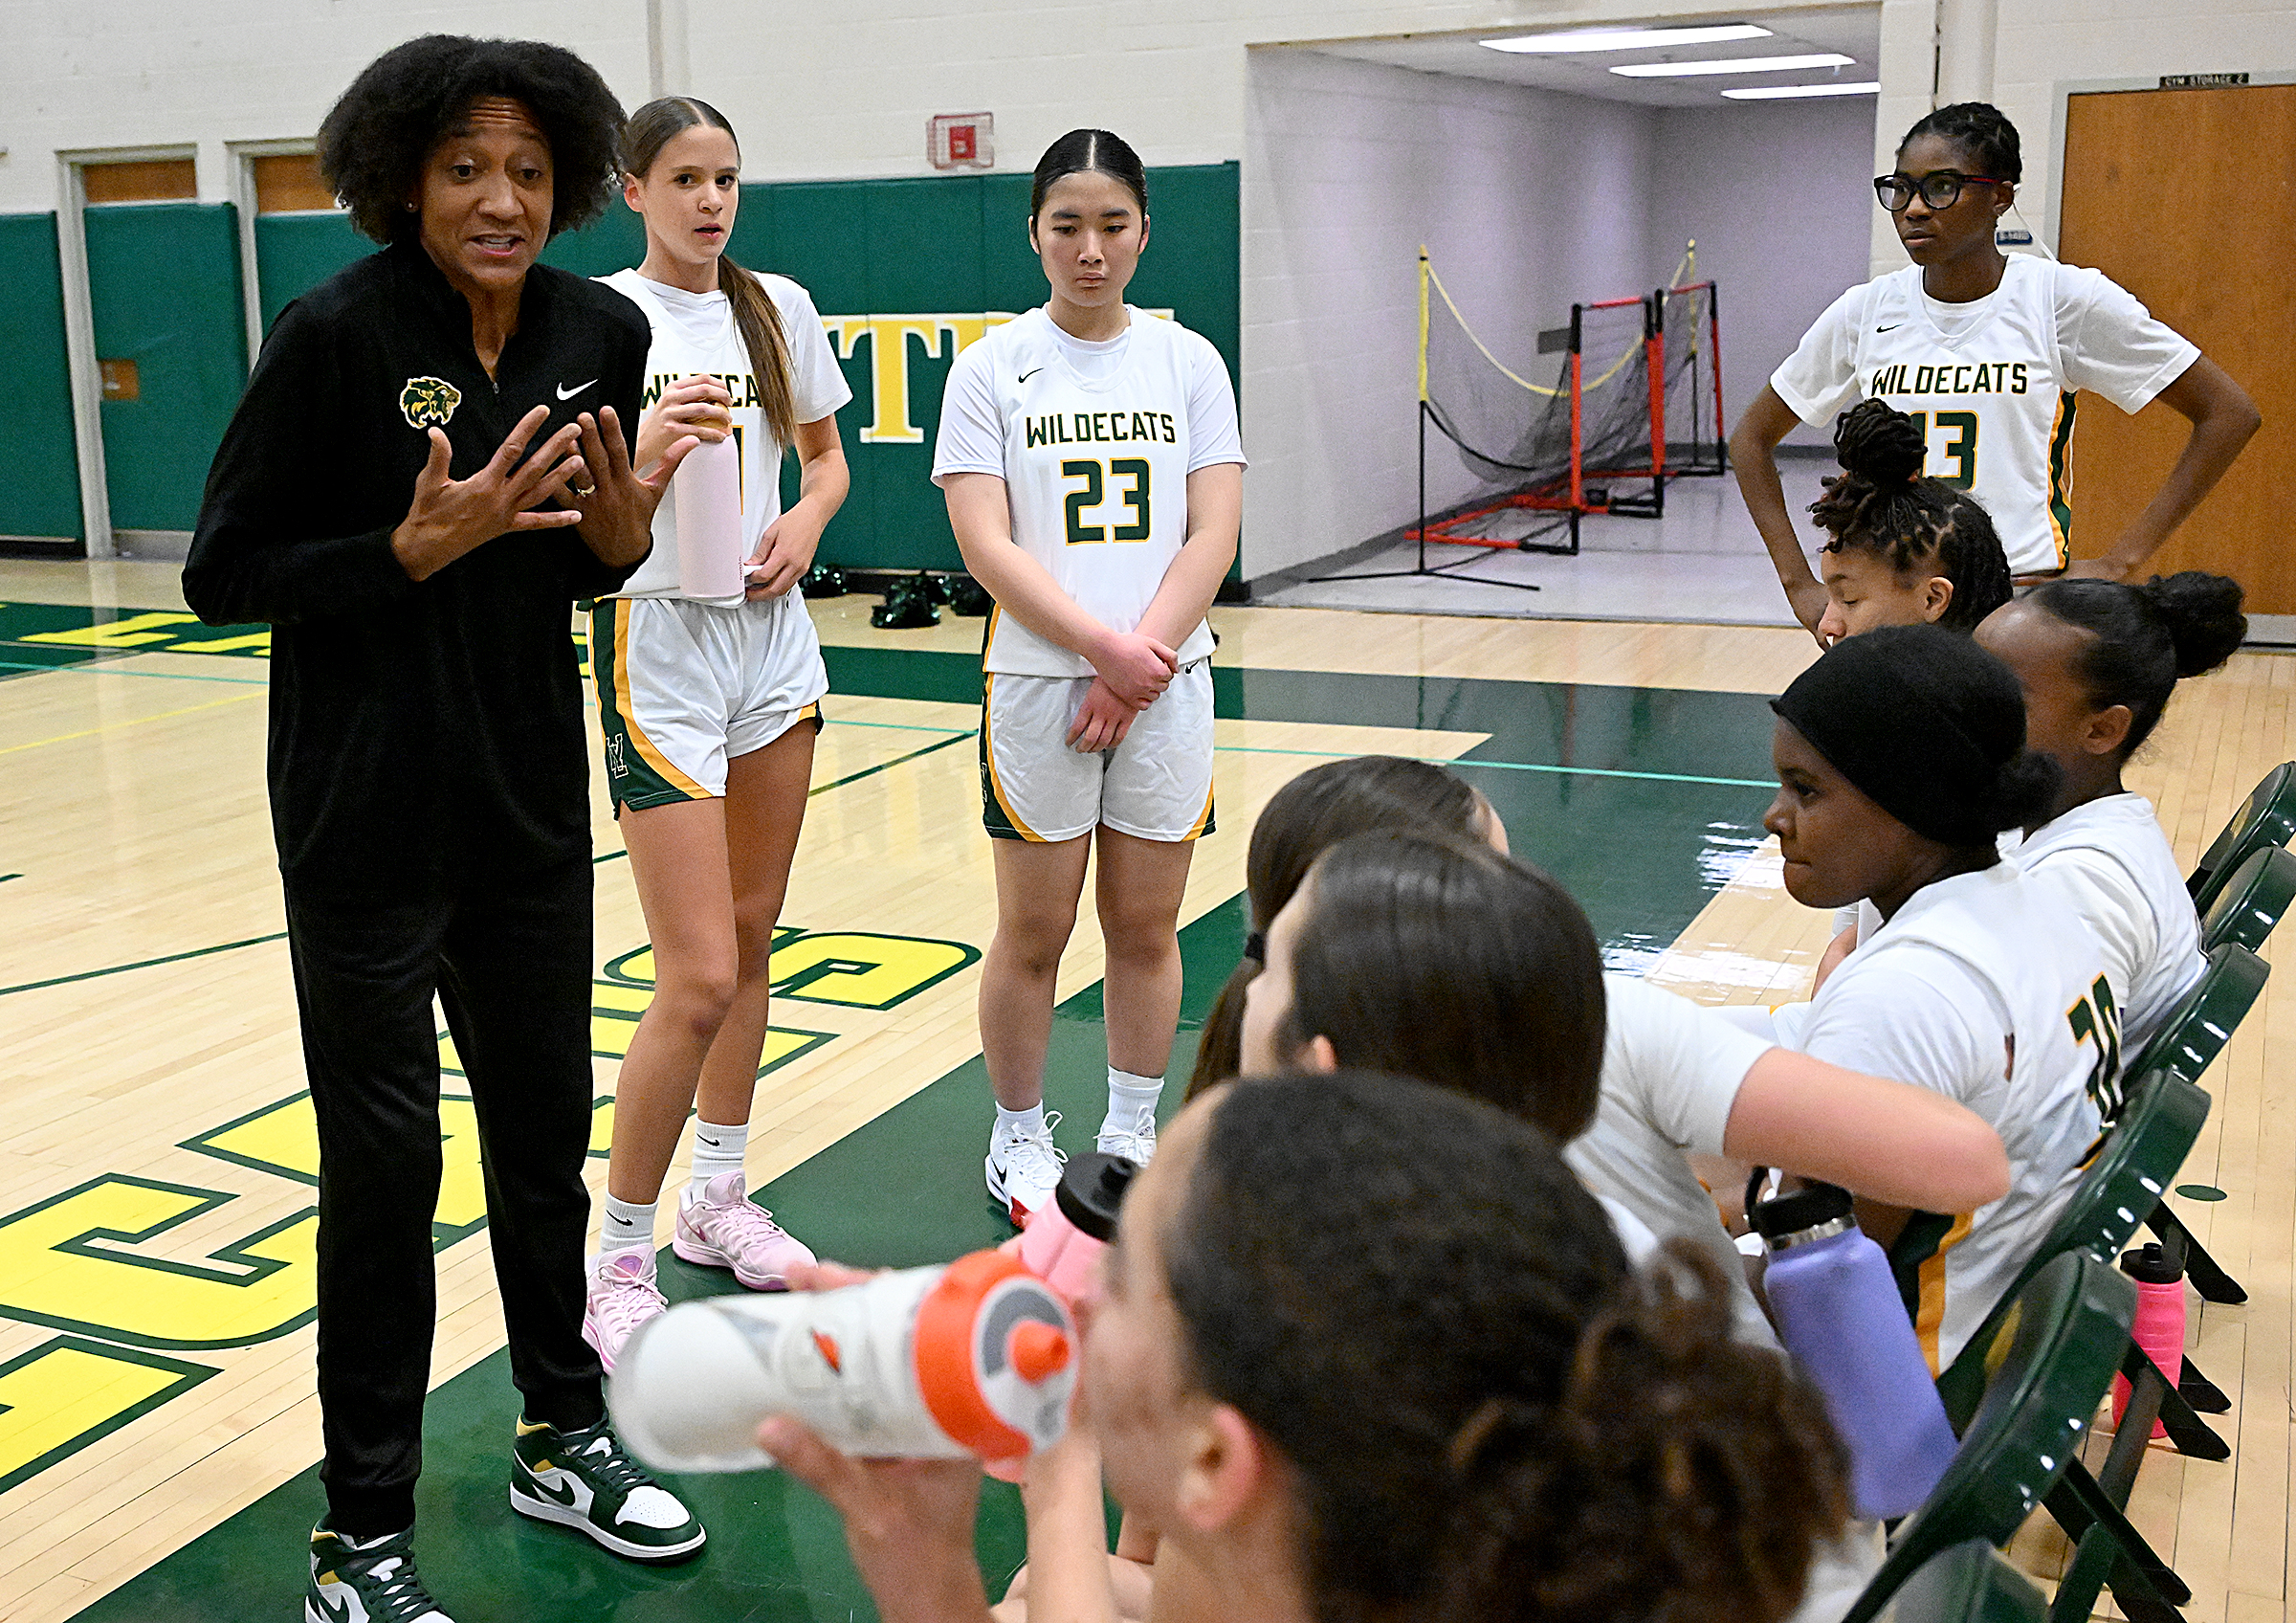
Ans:
[{"label": "dark green folding chair back just right of the purple bottle", "polygon": [[[1993,1377],[1961,1435],[1961,1451],[1922,1508],[1899,1524],[1880,1570],[1841,1623],[1871,1623],[1952,1545],[1970,1538],[1995,1550],[2007,1545],[2034,1506],[2055,1494],[2119,1368],[2117,1348],[2128,1341],[2135,1304],[2128,1279],[2082,1251],[2066,1251],[2034,1274],[2007,1313],[1995,1313],[1995,1334],[1979,1352],[1981,1366],[1993,1364]],[[2103,1511],[2119,1515],[2112,1506]]]}]

